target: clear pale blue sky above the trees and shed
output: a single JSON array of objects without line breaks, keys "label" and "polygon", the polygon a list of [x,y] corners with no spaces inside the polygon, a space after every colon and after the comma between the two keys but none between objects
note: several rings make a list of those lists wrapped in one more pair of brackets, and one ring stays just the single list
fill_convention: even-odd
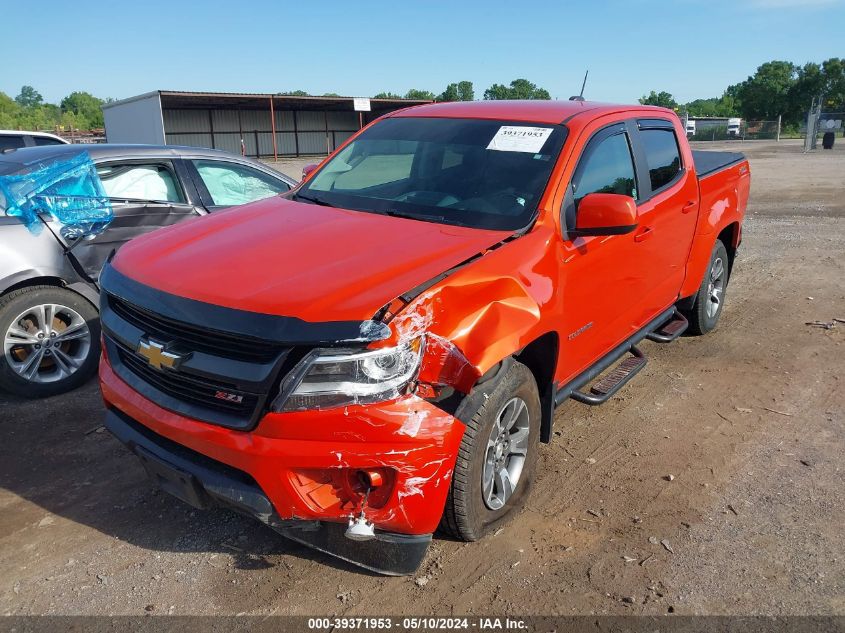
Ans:
[{"label": "clear pale blue sky above the trees and shed", "polygon": [[843,56],[845,0],[40,0],[0,11],[0,90],[435,93],[526,77],[554,98],[717,96],[762,62]]}]

